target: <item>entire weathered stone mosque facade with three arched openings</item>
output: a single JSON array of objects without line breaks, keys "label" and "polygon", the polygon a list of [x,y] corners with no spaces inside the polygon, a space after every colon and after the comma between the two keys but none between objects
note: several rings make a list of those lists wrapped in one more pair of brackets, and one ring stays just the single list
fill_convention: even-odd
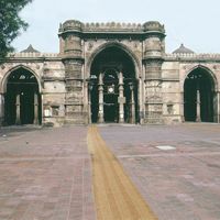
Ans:
[{"label": "entire weathered stone mosque facade with three arched openings", "polygon": [[220,54],[165,52],[158,22],[58,30],[59,53],[31,45],[0,65],[0,124],[220,122]]}]

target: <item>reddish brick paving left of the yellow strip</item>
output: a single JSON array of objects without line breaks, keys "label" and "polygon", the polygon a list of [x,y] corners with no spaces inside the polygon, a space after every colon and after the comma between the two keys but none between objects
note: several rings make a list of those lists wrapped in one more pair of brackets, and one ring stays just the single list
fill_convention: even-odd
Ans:
[{"label": "reddish brick paving left of the yellow strip", "polygon": [[95,220],[87,128],[0,130],[1,220]]}]

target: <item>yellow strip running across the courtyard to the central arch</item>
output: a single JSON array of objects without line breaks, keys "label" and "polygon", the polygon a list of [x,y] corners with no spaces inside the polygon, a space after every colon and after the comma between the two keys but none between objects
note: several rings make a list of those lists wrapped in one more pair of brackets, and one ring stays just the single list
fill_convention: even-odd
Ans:
[{"label": "yellow strip running across the courtyard to the central arch", "polygon": [[92,187],[97,219],[157,220],[101,139],[97,127],[89,127],[87,141],[92,158]]}]

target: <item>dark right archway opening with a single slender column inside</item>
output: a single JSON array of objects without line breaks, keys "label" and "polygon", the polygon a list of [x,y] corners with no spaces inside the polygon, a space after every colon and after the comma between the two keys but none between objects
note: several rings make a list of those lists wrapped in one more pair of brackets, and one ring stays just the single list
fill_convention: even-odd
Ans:
[{"label": "dark right archway opening with a single slender column inside", "polygon": [[198,67],[190,72],[184,84],[185,121],[213,122],[215,80],[211,74]]}]

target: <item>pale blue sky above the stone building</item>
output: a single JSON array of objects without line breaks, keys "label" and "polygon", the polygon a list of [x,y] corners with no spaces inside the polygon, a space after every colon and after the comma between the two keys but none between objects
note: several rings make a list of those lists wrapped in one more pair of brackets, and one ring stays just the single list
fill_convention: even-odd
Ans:
[{"label": "pale blue sky above the stone building", "polygon": [[32,44],[43,53],[58,53],[59,23],[74,19],[158,21],[166,30],[166,53],[182,43],[196,53],[220,53],[220,0],[33,0],[20,15],[30,26],[13,42],[16,52]]}]

